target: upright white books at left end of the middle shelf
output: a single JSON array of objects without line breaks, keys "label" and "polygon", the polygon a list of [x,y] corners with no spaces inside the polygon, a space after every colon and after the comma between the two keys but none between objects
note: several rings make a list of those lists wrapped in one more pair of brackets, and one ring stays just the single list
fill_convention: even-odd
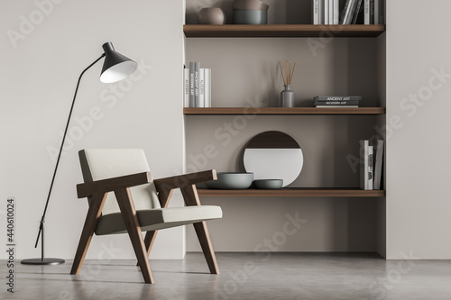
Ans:
[{"label": "upright white books at left end of the middle shelf", "polygon": [[185,107],[211,107],[211,68],[190,62],[183,72],[183,92]]}]

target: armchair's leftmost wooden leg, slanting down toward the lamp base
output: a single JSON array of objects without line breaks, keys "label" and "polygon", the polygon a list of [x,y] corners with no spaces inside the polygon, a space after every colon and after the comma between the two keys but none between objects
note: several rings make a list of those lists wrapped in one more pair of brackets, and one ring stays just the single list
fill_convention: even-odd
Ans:
[{"label": "armchair's leftmost wooden leg, slanting down toward the lamp base", "polygon": [[89,209],[87,210],[87,217],[85,220],[85,225],[83,226],[83,231],[81,232],[80,241],[78,241],[78,248],[75,254],[75,259],[70,269],[70,274],[75,275],[80,272],[81,266],[85,261],[87,249],[91,243],[92,236],[96,230],[98,218],[102,214],[102,209],[105,205],[106,200],[105,194],[93,195]]}]

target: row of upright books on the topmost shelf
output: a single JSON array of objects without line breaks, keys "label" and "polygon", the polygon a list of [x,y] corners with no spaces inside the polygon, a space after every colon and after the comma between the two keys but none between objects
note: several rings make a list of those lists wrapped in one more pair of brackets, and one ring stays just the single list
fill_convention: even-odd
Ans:
[{"label": "row of upright books on the topmost shelf", "polygon": [[355,24],[360,15],[360,23],[384,23],[384,0],[346,0],[341,14],[339,6],[339,0],[313,0],[313,24]]}]

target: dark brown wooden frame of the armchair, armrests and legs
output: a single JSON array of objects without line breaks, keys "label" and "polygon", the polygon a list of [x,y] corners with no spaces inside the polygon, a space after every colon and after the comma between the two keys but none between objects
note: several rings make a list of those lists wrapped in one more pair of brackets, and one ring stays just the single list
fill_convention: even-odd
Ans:
[{"label": "dark brown wooden frame of the armchair, armrests and legs", "polygon": [[[198,173],[155,179],[153,180],[153,183],[157,189],[161,207],[165,208],[169,205],[170,197],[175,188],[181,190],[181,194],[183,195],[183,199],[187,206],[200,205],[196,184],[209,180],[216,180],[216,170],[212,169]],[[117,204],[119,205],[121,214],[124,218],[125,227],[130,236],[130,240],[132,241],[136,259],[138,259],[138,265],[143,273],[144,281],[149,284],[155,282],[149,263],[149,255],[158,231],[146,232],[145,238],[143,239],[141,226],[138,222],[132,194],[130,192],[130,187],[132,186],[140,186],[151,182],[151,173],[143,172],[77,185],[78,198],[90,196],[91,200],[70,274],[75,275],[80,272],[87,254],[87,249],[92,240],[92,236],[96,231],[100,215],[102,214],[106,195],[109,192],[114,192]],[[198,235],[198,240],[211,274],[219,274],[215,252],[207,230],[207,223],[193,223],[193,226]]]}]

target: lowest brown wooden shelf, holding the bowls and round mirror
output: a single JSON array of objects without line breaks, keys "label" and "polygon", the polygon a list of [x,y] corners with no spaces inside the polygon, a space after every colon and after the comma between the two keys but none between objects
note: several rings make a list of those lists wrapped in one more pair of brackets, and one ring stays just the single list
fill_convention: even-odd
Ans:
[{"label": "lowest brown wooden shelf, holding the bowls and round mirror", "polygon": [[383,190],[365,191],[359,188],[307,188],[281,189],[209,189],[198,188],[199,196],[206,197],[382,197]]}]

